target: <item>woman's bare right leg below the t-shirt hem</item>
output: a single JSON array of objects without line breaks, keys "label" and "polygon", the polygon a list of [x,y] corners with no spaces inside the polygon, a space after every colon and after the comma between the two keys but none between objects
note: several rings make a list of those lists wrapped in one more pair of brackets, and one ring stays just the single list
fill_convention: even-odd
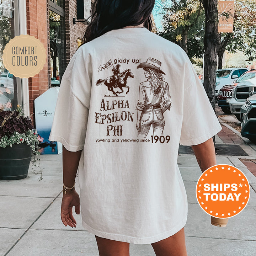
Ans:
[{"label": "woman's bare right leg below the t-shirt hem", "polygon": [[184,228],[169,238],[151,245],[156,256],[187,256]]}]

